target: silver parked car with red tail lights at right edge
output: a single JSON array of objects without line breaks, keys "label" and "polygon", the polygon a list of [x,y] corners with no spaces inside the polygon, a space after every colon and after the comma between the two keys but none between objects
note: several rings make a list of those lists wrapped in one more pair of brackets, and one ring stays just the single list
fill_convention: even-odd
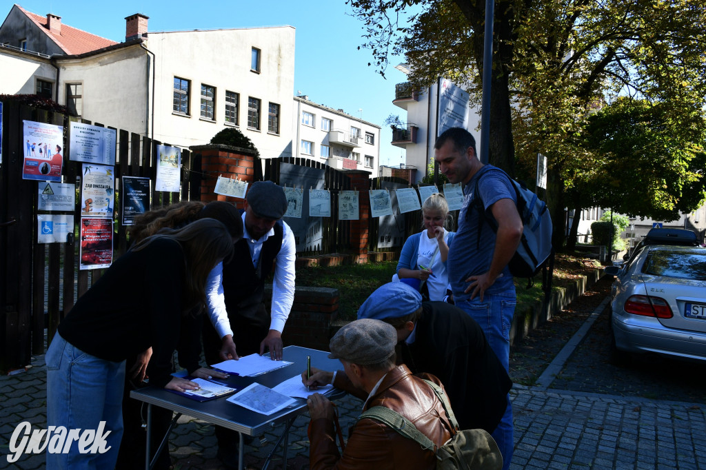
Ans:
[{"label": "silver parked car with red tail lights at right edge", "polygon": [[616,275],[611,301],[611,349],[706,361],[706,249],[645,245]]}]

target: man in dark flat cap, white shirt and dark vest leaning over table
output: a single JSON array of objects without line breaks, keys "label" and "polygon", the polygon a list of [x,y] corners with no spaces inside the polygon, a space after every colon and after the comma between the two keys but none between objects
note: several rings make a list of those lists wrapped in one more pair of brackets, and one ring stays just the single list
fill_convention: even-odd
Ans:
[{"label": "man in dark flat cap, white shirt and dark vest leaning over table", "polygon": [[[203,322],[205,359],[209,364],[228,358],[270,351],[273,360],[282,359],[282,330],[294,301],[294,234],[282,216],[287,212],[285,191],[272,181],[253,183],[246,195],[244,234],[234,246],[233,257],[217,267],[207,279],[210,317],[228,318]],[[274,269],[270,313],[264,303],[265,279]],[[225,296],[227,315],[218,310]],[[220,350],[217,345],[221,345]],[[237,435],[216,427],[219,457],[229,466],[237,464]]]}]

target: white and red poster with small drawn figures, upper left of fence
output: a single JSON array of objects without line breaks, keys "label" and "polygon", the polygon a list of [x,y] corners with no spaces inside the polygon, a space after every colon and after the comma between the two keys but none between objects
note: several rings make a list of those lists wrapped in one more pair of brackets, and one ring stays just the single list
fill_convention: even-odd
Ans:
[{"label": "white and red poster with small drawn figures, upper left of fence", "polygon": [[64,128],[35,121],[23,121],[25,163],[22,179],[61,181],[61,149]]}]

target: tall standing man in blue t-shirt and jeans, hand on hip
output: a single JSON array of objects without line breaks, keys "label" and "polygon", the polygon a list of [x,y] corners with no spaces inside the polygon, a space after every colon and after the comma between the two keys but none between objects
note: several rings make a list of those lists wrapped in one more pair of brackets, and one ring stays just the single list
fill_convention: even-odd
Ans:
[{"label": "tall standing man in blue t-shirt and jeans, hand on hip", "polygon": [[[487,171],[491,166],[479,161],[475,144],[465,129],[450,128],[434,145],[434,159],[441,172],[451,183],[464,185],[458,231],[448,253],[448,278],[455,305],[481,325],[490,347],[509,370],[515,284],[508,262],[520,243],[522,220],[513,183],[501,171]],[[479,194],[474,194],[476,186]],[[497,231],[482,222],[475,198],[481,199],[486,217],[496,221]],[[509,397],[505,415],[492,435],[503,453],[503,469],[508,469],[513,454]]]}]

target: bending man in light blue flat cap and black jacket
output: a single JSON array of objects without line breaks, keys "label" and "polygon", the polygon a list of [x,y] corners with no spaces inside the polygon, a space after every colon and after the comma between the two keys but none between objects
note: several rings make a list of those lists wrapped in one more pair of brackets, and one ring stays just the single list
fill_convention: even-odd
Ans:
[{"label": "bending man in light blue flat cap and black jacket", "polygon": [[[400,360],[414,373],[441,380],[461,429],[493,433],[512,382],[473,318],[448,303],[422,302],[419,291],[403,282],[379,287],[360,307],[358,318],[375,318],[395,328]],[[315,386],[352,388],[342,371],[334,377],[314,369],[310,380]]]}]

